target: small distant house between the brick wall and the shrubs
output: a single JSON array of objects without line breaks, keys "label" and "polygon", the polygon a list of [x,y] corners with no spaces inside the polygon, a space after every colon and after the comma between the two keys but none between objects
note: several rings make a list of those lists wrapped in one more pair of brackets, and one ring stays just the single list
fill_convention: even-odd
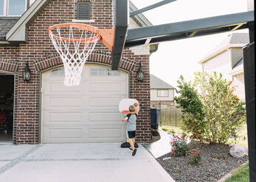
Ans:
[{"label": "small distant house between the brick wall and the shrubs", "polygon": [[151,108],[174,105],[175,87],[151,74]]}]

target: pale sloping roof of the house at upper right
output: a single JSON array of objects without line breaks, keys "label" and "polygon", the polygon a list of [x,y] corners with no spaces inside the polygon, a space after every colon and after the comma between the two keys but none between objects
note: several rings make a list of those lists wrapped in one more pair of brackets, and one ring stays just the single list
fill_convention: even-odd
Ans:
[{"label": "pale sloping roof of the house at upper right", "polygon": [[207,62],[212,57],[218,56],[222,52],[226,51],[229,48],[243,48],[246,44],[249,43],[249,34],[248,33],[232,33],[229,34],[219,45],[217,45],[206,57],[201,59],[199,63]]}]

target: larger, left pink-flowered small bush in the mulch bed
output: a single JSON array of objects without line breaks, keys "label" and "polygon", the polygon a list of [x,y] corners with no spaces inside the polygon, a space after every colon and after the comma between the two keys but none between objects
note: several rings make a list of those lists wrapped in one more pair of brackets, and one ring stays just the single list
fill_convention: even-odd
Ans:
[{"label": "larger, left pink-flowered small bush in the mulch bed", "polygon": [[187,145],[187,139],[182,135],[181,137],[173,134],[172,142],[172,154],[173,156],[186,156],[186,153],[190,150]]}]

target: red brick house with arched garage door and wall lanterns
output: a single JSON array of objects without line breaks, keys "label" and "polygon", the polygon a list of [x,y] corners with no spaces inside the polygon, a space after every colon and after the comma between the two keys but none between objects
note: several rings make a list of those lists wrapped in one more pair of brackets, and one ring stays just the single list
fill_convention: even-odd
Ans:
[{"label": "red brick house with arched garage door and wall lanterns", "polygon": [[[126,125],[118,112],[122,98],[141,103],[136,139],[151,140],[149,56],[157,44],[125,48],[120,70],[112,71],[111,52],[99,42],[87,59],[80,86],[63,85],[63,63],[47,29],[67,22],[112,28],[112,0],[81,0],[87,3],[82,5],[89,5],[81,7],[86,13],[77,10],[77,2],[0,1],[1,110],[13,115],[13,134],[10,140],[0,134],[0,142],[125,142]],[[136,10],[134,4],[130,10]],[[129,29],[139,26],[151,23],[144,15],[130,18]],[[31,69],[30,81],[22,77],[26,62]],[[139,62],[145,73],[143,82],[136,79]]]}]

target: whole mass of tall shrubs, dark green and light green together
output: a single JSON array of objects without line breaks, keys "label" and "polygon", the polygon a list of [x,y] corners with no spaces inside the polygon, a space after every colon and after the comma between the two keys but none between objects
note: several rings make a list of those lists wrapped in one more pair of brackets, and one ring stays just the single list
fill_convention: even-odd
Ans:
[{"label": "whole mass of tall shrubs, dark green and light green together", "polygon": [[222,79],[221,74],[195,73],[195,81],[180,77],[181,95],[175,98],[184,113],[184,131],[193,138],[211,144],[224,144],[229,138],[236,139],[246,122],[245,102],[234,94],[232,81]]}]

